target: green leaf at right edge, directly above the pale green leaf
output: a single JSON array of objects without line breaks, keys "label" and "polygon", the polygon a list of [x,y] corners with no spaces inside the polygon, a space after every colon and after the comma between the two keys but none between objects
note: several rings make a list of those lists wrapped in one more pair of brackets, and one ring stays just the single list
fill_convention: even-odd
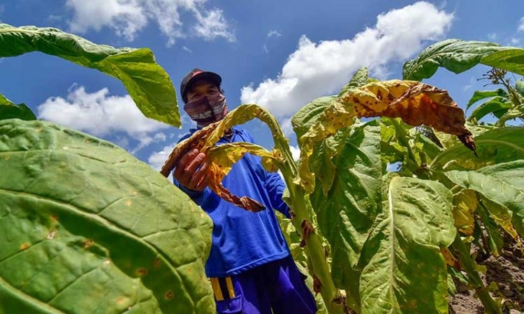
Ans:
[{"label": "green leaf at right edge, directly above the pale green leaf", "polygon": [[432,160],[431,167],[442,170],[476,170],[494,163],[524,159],[524,127],[488,130],[475,137],[476,154],[460,144]]}]

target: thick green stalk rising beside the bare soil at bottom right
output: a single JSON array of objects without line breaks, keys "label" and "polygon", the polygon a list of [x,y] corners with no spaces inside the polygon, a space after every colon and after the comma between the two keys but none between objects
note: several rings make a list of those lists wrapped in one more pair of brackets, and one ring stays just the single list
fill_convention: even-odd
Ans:
[{"label": "thick green stalk rising beside the bare soil at bottom right", "polygon": [[476,271],[476,264],[474,260],[472,260],[470,252],[467,250],[462,239],[460,239],[460,235],[458,233],[455,237],[455,241],[453,241],[452,246],[456,253],[458,253],[460,264],[467,272],[467,276],[470,278],[475,292],[479,296],[479,299],[484,306],[484,311],[486,311],[486,313],[502,314],[500,306],[498,306],[497,302],[495,302],[495,300],[491,297],[488,292],[488,288],[484,285],[479,275],[479,272]]}]

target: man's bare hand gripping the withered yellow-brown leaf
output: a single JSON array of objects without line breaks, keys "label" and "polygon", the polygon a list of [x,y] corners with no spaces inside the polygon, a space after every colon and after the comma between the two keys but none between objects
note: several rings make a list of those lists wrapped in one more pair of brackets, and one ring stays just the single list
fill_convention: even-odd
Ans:
[{"label": "man's bare hand gripping the withered yellow-brown leaf", "polygon": [[187,152],[177,164],[173,177],[189,190],[201,191],[208,186],[208,163],[205,154],[193,149]]}]

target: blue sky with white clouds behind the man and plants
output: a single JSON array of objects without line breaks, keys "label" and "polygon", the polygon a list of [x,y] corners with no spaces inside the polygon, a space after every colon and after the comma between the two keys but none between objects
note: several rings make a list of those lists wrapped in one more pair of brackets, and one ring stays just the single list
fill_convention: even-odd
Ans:
[{"label": "blue sky with white clouds behind the man and plants", "polygon": [[[367,66],[372,77],[402,77],[402,64],[445,38],[523,47],[524,1],[0,1],[0,22],[58,27],[94,43],[149,47],[178,92],[191,68],[223,77],[230,109],[258,103],[281,121],[310,100],[335,94]],[[488,68],[427,80],[464,107]],[[25,103],[39,119],[115,142],[159,168],[182,129],[145,119],[115,78],[39,52],[0,59],[0,93]],[[515,77],[518,79],[519,77]],[[489,87],[488,87],[489,88]],[[179,105],[182,100],[179,96]],[[271,147],[258,122],[245,126]]]}]

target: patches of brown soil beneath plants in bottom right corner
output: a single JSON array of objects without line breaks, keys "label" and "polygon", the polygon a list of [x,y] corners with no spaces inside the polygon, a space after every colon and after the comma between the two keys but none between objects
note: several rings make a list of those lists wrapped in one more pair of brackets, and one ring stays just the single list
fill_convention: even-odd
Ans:
[{"label": "patches of brown soil beneath plants in bottom right corner", "polygon": [[[524,246],[518,247],[511,238],[506,240],[499,257],[478,253],[476,262],[487,268],[485,273],[481,273],[484,284],[497,285],[498,289],[494,289],[491,295],[502,304],[502,313],[524,313]],[[465,283],[455,283],[457,293],[450,297],[450,313],[484,313],[474,290],[468,290]]]}]

